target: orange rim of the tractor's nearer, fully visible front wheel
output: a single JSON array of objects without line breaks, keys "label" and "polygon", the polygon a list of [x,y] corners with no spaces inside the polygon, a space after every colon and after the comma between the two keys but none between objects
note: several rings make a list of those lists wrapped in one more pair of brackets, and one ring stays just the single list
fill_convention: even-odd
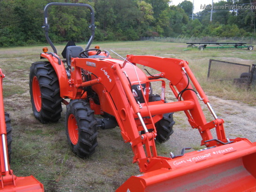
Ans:
[{"label": "orange rim of the tractor's nearer, fully visible front wheel", "polygon": [[68,135],[72,144],[77,144],[78,142],[78,126],[76,118],[73,114],[70,114],[68,117]]}]

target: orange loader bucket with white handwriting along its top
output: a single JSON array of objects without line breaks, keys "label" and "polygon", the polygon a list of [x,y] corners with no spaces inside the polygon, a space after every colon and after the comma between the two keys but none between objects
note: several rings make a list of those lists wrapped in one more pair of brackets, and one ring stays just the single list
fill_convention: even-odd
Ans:
[{"label": "orange loader bucket with white handwriting along its top", "polygon": [[116,192],[256,192],[256,143],[247,139],[167,163],[168,168],[131,176]]}]

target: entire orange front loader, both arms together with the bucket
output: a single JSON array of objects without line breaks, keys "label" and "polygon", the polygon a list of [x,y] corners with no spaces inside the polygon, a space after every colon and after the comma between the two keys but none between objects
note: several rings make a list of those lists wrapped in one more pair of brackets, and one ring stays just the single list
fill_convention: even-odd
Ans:
[{"label": "entire orange front loader, both arms together with the bucket", "polygon": [[[125,72],[128,65],[133,65],[135,73],[139,73],[136,64],[159,71],[161,76],[169,81],[168,85],[177,101],[138,104],[131,91],[127,77],[129,75]],[[142,172],[141,175],[130,177],[117,189],[117,192],[159,192],[173,189],[180,192],[184,190],[199,192],[206,185],[211,186],[212,190],[208,190],[209,192],[221,191],[221,189],[223,192],[232,192],[240,184],[242,187],[239,192],[247,192],[247,189],[256,190],[256,166],[251,165],[252,160],[256,159],[256,144],[252,144],[247,139],[226,138],[224,120],[216,117],[207,96],[186,61],[128,55],[126,61],[112,58],[76,58],[72,60],[71,65],[74,69],[71,74],[72,79],[77,82],[74,86],[81,89],[92,86],[96,91],[100,98],[101,110],[115,116],[124,142],[129,143],[134,152],[133,162],[138,164]],[[94,74],[94,78],[82,82],[81,69]],[[188,83],[189,79],[193,86]],[[163,89],[164,87],[162,87],[164,92]],[[76,97],[79,95],[74,96]],[[206,121],[199,100],[202,100],[212,112],[214,120],[211,122]],[[144,120],[148,116],[152,119],[156,114],[177,111],[185,112],[191,127],[199,130],[202,137],[201,144],[206,145],[207,148],[180,156],[160,157],[155,146],[157,132],[154,124],[153,122],[144,124]],[[213,138],[210,132],[212,128],[216,129],[217,138]],[[153,131],[148,131],[149,129]],[[142,130],[143,134],[141,134]],[[220,173],[221,176],[218,175]],[[218,179],[213,180],[212,175]],[[190,181],[190,177],[195,179]],[[221,184],[223,180],[227,180],[227,183]]]}]

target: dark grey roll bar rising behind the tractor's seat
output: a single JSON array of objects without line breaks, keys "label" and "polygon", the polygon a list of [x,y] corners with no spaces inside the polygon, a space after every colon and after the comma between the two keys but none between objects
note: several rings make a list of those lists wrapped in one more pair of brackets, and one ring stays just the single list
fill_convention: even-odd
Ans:
[{"label": "dark grey roll bar rising behind the tractor's seat", "polygon": [[91,45],[91,43],[94,39],[94,35],[95,35],[94,10],[93,10],[93,8],[88,4],[78,4],[78,3],[48,3],[45,6],[45,8],[44,8],[44,26],[43,26],[43,28],[45,30],[46,40],[48,41],[48,43],[52,47],[55,54],[57,54],[57,50],[56,50],[55,46],[53,45],[52,41],[50,40],[49,34],[48,34],[48,31],[49,31],[49,28],[50,28],[50,25],[48,24],[48,8],[50,6],[53,6],[53,5],[56,5],[56,6],[87,7],[87,8],[90,9],[90,11],[91,11],[91,25],[90,25],[91,37],[88,40],[88,43],[87,43],[86,48],[85,48],[85,49],[88,49],[90,47],[90,45]]}]

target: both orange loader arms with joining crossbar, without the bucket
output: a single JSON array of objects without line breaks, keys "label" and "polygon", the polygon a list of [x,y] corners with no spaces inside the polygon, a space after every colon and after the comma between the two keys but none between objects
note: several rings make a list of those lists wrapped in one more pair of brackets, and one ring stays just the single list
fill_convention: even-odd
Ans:
[{"label": "both orange loader arms with joining crossbar, without the bucket", "polygon": [[[183,69],[185,68],[188,72],[190,72],[186,61],[154,56],[128,56],[128,61],[134,64],[143,64],[160,71],[163,74],[163,78],[170,81],[169,85],[175,86],[179,92],[181,92],[188,84],[188,79]],[[212,140],[213,137],[210,133],[210,128],[215,128],[215,125],[213,123],[212,126],[207,124],[198,102],[198,98],[193,91],[185,91],[182,95],[184,99],[183,101],[172,103],[151,102],[142,105],[140,108],[132,95],[128,79],[124,74],[127,66],[124,66],[123,61],[108,58],[101,60],[94,58],[77,58],[73,60],[72,67],[75,69],[71,75],[74,82],[77,82],[77,84],[74,85],[76,88],[89,86],[93,82],[96,82],[93,88],[101,99],[102,110],[115,116],[120,126],[121,135],[123,136],[124,141],[126,143],[129,142],[134,151],[135,156],[133,162],[137,162],[139,164],[142,172],[154,169],[154,165],[152,165],[151,162],[161,161],[161,158],[158,158],[154,143],[154,138],[157,134],[154,126],[151,125],[154,129],[154,131],[151,133],[149,133],[147,130],[145,130],[145,134],[143,135],[140,135],[139,133],[139,131],[141,131],[139,127],[143,127],[143,122],[141,122],[141,124],[138,126],[136,124],[136,119],[139,119],[140,115],[147,117],[156,114],[164,114],[167,112],[184,111],[188,116],[188,120],[193,128],[204,128],[203,130],[200,130],[202,144],[206,144],[208,147],[219,145],[218,142]],[[91,82],[82,83],[80,69],[87,70],[100,78],[91,80]],[[139,69],[137,70],[139,71]],[[197,82],[194,83],[197,87],[200,87]],[[102,88],[104,88],[104,91],[102,91]],[[192,89],[192,86],[189,85],[188,88]],[[79,93],[81,93],[81,91]],[[174,94],[177,95],[176,92]],[[203,92],[201,95],[205,101],[208,101]],[[76,95],[73,97],[77,98],[79,96]],[[216,120],[215,123],[216,122],[218,123],[218,120]],[[208,127],[205,125],[208,125]],[[226,138],[217,139],[224,143],[227,142]],[[212,141],[205,143],[205,141],[208,140]],[[146,146],[146,152],[144,152],[143,145]],[[153,159],[149,160],[148,158]],[[168,163],[166,166],[168,167]]]}]

